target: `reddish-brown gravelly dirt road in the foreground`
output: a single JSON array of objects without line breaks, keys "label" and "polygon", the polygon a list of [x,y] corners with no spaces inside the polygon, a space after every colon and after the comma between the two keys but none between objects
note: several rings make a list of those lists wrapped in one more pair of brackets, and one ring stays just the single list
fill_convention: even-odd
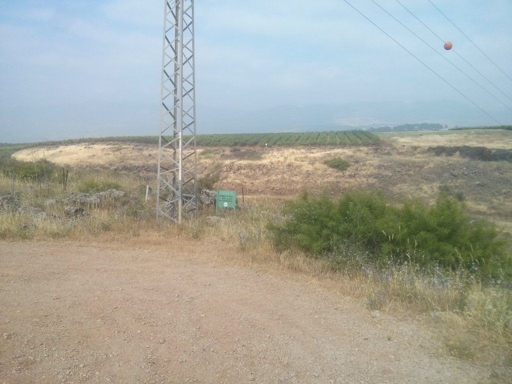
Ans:
[{"label": "reddish-brown gravelly dirt road in the foreground", "polygon": [[0,384],[485,382],[419,326],[218,246],[0,242]]}]

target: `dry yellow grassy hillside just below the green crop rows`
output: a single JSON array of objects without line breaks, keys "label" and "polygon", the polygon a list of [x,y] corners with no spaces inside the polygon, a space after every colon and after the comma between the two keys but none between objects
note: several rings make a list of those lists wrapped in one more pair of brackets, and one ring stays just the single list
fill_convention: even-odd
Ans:
[{"label": "dry yellow grassy hillside just below the green crop rows", "polygon": [[[199,177],[216,174],[216,188],[241,195],[295,196],[302,191],[339,196],[354,188],[379,189],[391,200],[432,202],[442,185],[463,194],[473,214],[494,220],[510,231],[512,225],[512,163],[435,156],[431,145],[512,146],[512,132],[468,130],[380,133],[376,147],[249,147],[200,148]],[[103,143],[31,148],[20,160],[46,158],[57,164],[155,167],[156,147],[148,144]],[[340,157],[351,166],[338,172],[323,164]],[[155,175],[145,174],[154,188]]]}]

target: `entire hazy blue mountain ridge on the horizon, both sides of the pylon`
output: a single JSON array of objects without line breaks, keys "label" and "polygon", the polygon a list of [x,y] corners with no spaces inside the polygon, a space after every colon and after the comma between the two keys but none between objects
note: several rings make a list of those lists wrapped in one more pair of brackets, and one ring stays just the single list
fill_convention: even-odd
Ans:
[{"label": "entire hazy blue mountain ridge on the horizon, both sides of the pylon", "polygon": [[[79,137],[157,135],[157,102],[88,101],[80,104],[0,106],[0,142],[34,142]],[[29,113],[27,113],[29,112]],[[33,112],[30,113],[30,112]],[[512,112],[489,111],[503,124]],[[36,120],[32,116],[39,116]],[[263,110],[197,106],[197,133],[338,131],[439,123],[452,126],[496,125],[482,111],[457,101],[351,102],[339,105],[281,105]],[[41,132],[45,132],[41,136]],[[50,132],[50,133],[49,133]]]}]

